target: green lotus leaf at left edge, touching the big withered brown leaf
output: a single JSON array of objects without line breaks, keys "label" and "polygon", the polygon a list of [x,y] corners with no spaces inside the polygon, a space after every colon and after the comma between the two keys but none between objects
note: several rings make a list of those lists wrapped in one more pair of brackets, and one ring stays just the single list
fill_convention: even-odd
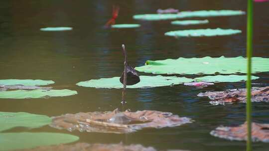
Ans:
[{"label": "green lotus leaf at left edge, touching the big withered brown leaf", "polygon": [[25,112],[0,112],[0,131],[14,127],[38,128],[51,123],[51,118],[45,115]]}]

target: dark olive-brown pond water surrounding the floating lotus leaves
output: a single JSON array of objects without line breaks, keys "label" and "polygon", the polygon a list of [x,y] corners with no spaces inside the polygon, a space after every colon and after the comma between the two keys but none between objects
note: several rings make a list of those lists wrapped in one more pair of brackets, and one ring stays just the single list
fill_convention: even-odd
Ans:
[{"label": "dark olive-brown pond water surrounding the floating lotus leaves", "polygon": [[[112,5],[120,6],[119,24],[140,24],[134,29],[105,29]],[[0,99],[2,112],[29,112],[47,116],[66,113],[121,110],[158,110],[195,120],[174,128],[147,129],[132,134],[103,134],[15,128],[8,132],[58,132],[80,137],[85,143],[141,144],[157,150],[243,151],[245,142],[227,141],[209,133],[220,125],[245,121],[245,104],[213,106],[199,92],[243,88],[244,82],[217,83],[198,89],[183,84],[127,90],[128,103],[121,105],[121,89],[96,89],[75,85],[79,81],[120,76],[123,71],[121,45],[125,44],[129,64],[178,57],[246,56],[246,15],[208,19],[209,24],[177,26],[166,21],[134,20],[134,14],[155,13],[158,8],[180,11],[244,10],[246,0],[1,0],[0,79],[54,80],[57,89],[78,91],[77,95],[49,99]],[[254,56],[269,57],[269,2],[254,4]],[[188,18],[190,19],[190,18]],[[73,27],[71,31],[40,31],[45,27]],[[219,37],[179,38],[164,36],[167,31],[205,28],[240,29],[241,34]],[[180,65],[178,65],[180,66]],[[139,73],[139,75],[151,75]],[[269,84],[269,72],[255,83]],[[178,75],[182,76],[182,75]],[[184,75],[185,76],[185,75]],[[186,75],[197,77],[197,75]],[[253,120],[269,123],[269,104],[253,104]],[[269,144],[254,143],[255,151],[268,151]]]}]

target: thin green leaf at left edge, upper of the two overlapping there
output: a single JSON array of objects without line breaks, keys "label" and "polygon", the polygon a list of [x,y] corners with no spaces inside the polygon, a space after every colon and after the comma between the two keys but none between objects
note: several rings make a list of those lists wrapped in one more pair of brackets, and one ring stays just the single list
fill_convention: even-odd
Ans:
[{"label": "thin green leaf at left edge, upper of the two overlapping there", "polygon": [[0,79],[0,85],[25,85],[25,86],[36,86],[36,85],[48,85],[53,84],[52,80],[42,79]]}]

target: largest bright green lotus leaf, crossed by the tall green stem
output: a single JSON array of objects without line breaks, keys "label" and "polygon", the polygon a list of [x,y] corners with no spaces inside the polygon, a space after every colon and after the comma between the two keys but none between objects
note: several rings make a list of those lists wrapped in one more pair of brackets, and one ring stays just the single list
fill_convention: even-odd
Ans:
[{"label": "largest bright green lotus leaf, crossed by the tall green stem", "polygon": [[[269,72],[269,58],[253,57],[252,73]],[[135,70],[153,74],[235,74],[247,73],[247,59],[244,57],[178,58],[146,61],[145,66]]]}]

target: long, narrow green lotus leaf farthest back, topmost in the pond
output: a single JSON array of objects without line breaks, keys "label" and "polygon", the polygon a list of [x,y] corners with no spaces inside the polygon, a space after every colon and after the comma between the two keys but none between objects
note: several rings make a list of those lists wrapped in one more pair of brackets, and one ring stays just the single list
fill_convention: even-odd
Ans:
[{"label": "long, narrow green lotus leaf farthest back, topmost in the pond", "polygon": [[213,16],[232,16],[243,15],[244,11],[241,10],[198,10],[198,11],[181,11],[179,13],[167,13],[167,14],[137,14],[134,15],[134,19],[140,20],[167,20],[178,19],[186,17],[213,17]]}]

